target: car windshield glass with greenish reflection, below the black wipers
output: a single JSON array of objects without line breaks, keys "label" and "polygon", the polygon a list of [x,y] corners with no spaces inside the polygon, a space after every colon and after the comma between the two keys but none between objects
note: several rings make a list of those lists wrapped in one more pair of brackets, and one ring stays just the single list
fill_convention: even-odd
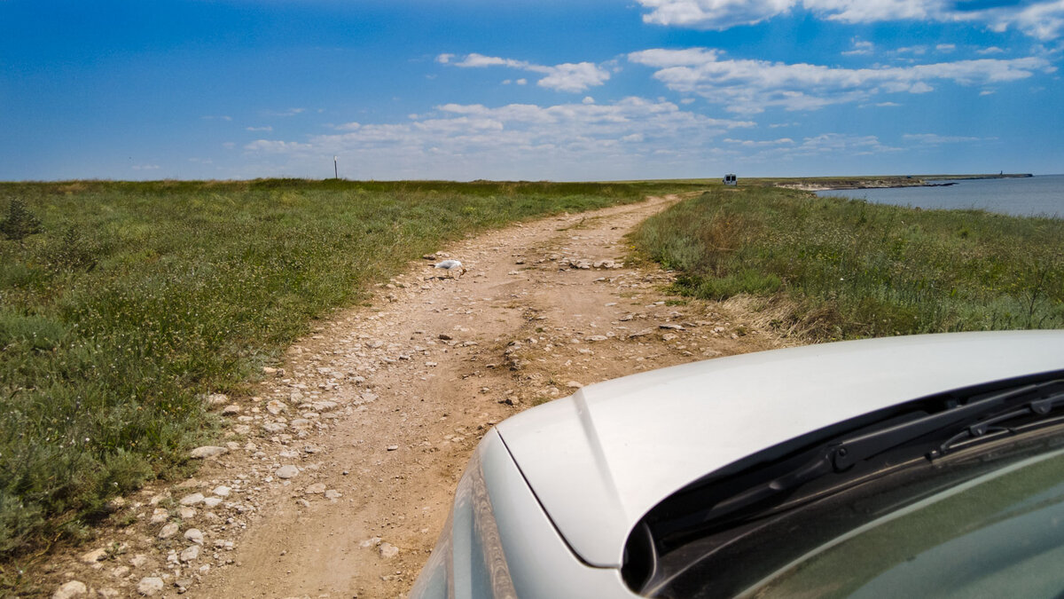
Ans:
[{"label": "car windshield glass with greenish reflection, below the black wipers", "polygon": [[1059,597],[1064,450],[942,490],[816,547],[751,597]]}]

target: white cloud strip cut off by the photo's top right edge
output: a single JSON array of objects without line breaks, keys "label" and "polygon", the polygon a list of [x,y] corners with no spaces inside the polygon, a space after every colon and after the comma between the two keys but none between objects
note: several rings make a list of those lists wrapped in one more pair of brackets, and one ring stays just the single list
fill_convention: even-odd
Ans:
[{"label": "white cloud strip cut off by the photo's top right edge", "polygon": [[969,10],[955,0],[637,0],[649,23],[725,30],[754,25],[796,9],[848,23],[895,20],[974,22],[995,31],[1016,29],[1038,39],[1064,34],[1064,0],[1035,0]]}]

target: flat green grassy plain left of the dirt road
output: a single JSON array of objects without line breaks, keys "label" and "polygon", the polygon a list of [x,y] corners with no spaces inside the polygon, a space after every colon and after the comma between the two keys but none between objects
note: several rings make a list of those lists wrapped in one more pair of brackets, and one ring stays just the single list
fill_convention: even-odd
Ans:
[{"label": "flat green grassy plain left of the dirt road", "polygon": [[17,198],[43,227],[0,239],[0,574],[87,534],[111,497],[189,472],[189,449],[215,431],[202,394],[239,392],[314,319],[409,260],[682,188],[0,183],[0,218]]}]

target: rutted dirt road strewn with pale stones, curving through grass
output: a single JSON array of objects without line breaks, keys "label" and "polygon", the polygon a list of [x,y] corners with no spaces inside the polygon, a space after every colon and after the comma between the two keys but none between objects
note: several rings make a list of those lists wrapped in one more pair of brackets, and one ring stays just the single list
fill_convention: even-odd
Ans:
[{"label": "rutted dirt road strewn with pale stones, curving through grass", "polygon": [[782,344],[622,263],[624,234],[675,200],[468,239],[437,255],[462,260],[461,278],[412,264],[293,345],[255,396],[215,398],[227,452],[130,498],[133,523],[101,545],[124,547],[73,556],[66,580],[115,596],[401,596],[496,422],[581,385]]}]

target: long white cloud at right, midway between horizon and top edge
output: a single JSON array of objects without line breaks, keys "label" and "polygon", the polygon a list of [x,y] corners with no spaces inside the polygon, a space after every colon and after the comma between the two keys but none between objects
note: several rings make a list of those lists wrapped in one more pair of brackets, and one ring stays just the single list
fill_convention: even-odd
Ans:
[{"label": "long white cloud at right, midway between horizon and top edge", "polygon": [[628,59],[658,69],[654,78],[670,90],[698,94],[731,112],[745,114],[772,107],[817,110],[866,101],[878,94],[925,94],[937,82],[985,85],[1055,70],[1048,61],[1035,56],[875,68],[725,59],[722,51],[710,48],[643,50],[632,52]]}]

